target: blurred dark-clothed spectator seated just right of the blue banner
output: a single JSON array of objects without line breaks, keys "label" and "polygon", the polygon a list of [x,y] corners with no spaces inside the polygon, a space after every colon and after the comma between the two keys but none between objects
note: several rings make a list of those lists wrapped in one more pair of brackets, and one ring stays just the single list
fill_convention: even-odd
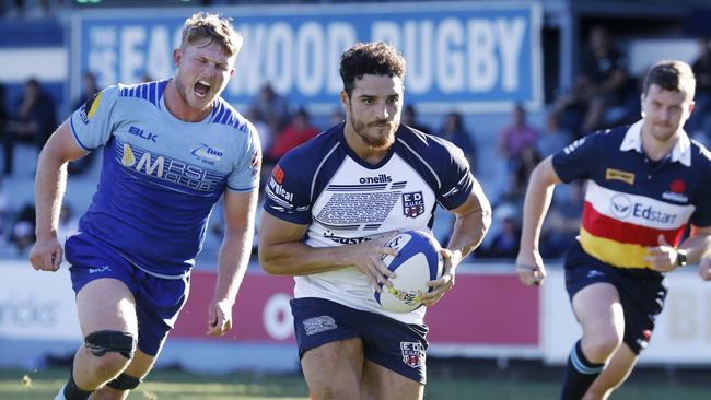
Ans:
[{"label": "blurred dark-clothed spectator seated just right of the blue banner", "polygon": [[603,26],[591,28],[580,69],[572,90],[558,98],[555,110],[564,114],[567,128],[583,136],[607,122],[610,106],[627,102],[633,82],[627,59],[613,46],[609,31]]}]

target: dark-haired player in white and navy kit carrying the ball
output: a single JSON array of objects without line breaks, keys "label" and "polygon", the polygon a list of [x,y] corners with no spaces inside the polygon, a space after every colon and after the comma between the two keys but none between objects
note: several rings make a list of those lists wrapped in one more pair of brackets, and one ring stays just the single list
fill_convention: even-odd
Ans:
[{"label": "dark-haired player in white and navy kit carrying the ball", "polygon": [[393,277],[381,257],[396,231],[430,230],[436,204],[456,215],[431,306],[481,242],[491,210],[464,153],[400,123],[405,59],[382,43],[341,56],[346,121],[284,155],[266,187],[259,260],[294,275],[294,328],[315,399],[421,399],[424,307],[396,314],[373,297]]}]

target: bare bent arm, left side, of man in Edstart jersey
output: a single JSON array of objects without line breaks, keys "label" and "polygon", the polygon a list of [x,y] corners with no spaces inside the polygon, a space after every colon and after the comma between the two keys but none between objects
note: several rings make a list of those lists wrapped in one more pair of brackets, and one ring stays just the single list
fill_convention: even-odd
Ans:
[{"label": "bare bent arm, left side, of man in Edstart jersey", "polygon": [[521,248],[516,257],[518,279],[527,286],[539,285],[546,279],[546,268],[540,252],[538,252],[538,242],[555,186],[559,183],[560,178],[556,174],[550,156],[541,161],[528,178],[528,188],[523,205]]}]

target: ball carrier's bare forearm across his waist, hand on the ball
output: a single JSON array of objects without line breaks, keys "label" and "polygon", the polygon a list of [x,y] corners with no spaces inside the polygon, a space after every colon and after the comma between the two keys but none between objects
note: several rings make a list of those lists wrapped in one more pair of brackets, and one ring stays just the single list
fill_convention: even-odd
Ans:
[{"label": "ball carrier's bare forearm across his waist, hand on the ball", "polygon": [[393,277],[393,272],[383,263],[381,256],[397,255],[397,250],[384,246],[395,234],[357,245],[317,248],[302,242],[306,230],[307,225],[294,224],[263,211],[259,221],[261,268],[278,275],[306,275],[356,267],[376,290],[380,290],[378,282],[391,285],[387,278]]}]

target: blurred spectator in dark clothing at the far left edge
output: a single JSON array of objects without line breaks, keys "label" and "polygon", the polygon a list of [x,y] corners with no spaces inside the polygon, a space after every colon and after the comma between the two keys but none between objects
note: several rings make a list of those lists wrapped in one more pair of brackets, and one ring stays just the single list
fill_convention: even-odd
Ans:
[{"label": "blurred spectator in dark clothing at the far left edge", "polygon": [[57,128],[55,101],[43,91],[36,79],[28,80],[16,113],[5,127],[4,174],[12,175],[14,148],[18,141],[34,143],[39,151],[55,128]]}]

